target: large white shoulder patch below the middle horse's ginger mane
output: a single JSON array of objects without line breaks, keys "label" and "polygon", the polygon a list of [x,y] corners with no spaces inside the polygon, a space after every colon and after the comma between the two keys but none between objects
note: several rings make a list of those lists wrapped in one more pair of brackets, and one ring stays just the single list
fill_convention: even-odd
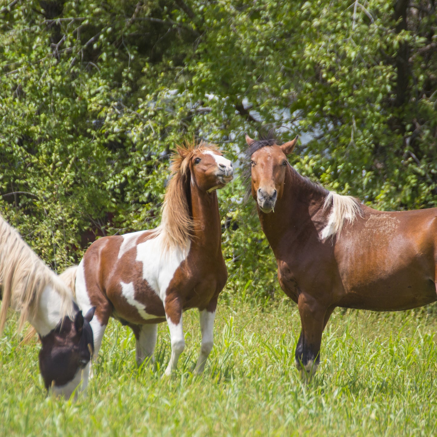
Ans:
[{"label": "large white shoulder patch below the middle horse's ginger mane", "polygon": [[165,301],[166,291],[174,273],[190,251],[191,241],[187,239],[185,247],[165,250],[164,235],[161,232],[155,238],[139,243],[135,261],[142,262],[142,278]]}]

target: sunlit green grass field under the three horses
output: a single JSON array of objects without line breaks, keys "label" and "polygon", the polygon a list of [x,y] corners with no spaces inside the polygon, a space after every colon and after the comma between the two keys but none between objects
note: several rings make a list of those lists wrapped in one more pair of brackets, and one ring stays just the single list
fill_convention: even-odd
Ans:
[{"label": "sunlit green grass field under the three horses", "polygon": [[294,364],[296,305],[219,305],[215,346],[194,377],[200,336],[184,315],[179,370],[160,325],[156,368],[136,368],[135,340],[111,322],[87,397],[47,397],[38,344],[19,346],[11,312],[0,339],[0,435],[368,436],[437,435],[436,307],[401,313],[336,310],[323,335],[316,378],[304,386]]}]

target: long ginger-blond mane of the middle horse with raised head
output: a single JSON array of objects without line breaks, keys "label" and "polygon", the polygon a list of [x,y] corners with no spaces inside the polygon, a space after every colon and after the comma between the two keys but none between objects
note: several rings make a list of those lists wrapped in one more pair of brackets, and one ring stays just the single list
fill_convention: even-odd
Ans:
[{"label": "long ginger-blond mane of the middle horse with raised head", "polygon": [[158,228],[163,233],[164,247],[185,248],[187,239],[193,236],[191,217],[191,172],[189,162],[193,155],[218,151],[214,144],[201,141],[199,144],[185,142],[176,146],[170,160],[171,179],[167,186],[162,209],[162,221]]}]

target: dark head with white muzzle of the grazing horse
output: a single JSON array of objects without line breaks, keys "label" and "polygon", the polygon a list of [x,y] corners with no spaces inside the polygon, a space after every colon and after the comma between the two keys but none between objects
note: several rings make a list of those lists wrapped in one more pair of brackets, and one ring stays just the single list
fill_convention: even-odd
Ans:
[{"label": "dark head with white muzzle of the grazing horse", "polygon": [[85,317],[78,311],[74,321],[64,317],[55,329],[41,337],[39,368],[45,388],[51,388],[56,395],[70,397],[80,381],[82,369],[92,358],[94,339],[90,321],[93,316],[94,307]]}]

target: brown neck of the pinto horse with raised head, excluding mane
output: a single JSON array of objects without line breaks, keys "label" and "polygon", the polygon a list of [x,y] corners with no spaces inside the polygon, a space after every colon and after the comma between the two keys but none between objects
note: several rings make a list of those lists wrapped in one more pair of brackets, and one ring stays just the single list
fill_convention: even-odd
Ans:
[{"label": "brown neck of the pinto horse with raised head, excluding mane", "polygon": [[209,251],[222,247],[222,228],[218,212],[217,193],[201,191],[191,184],[191,215],[193,217],[193,245]]}]

